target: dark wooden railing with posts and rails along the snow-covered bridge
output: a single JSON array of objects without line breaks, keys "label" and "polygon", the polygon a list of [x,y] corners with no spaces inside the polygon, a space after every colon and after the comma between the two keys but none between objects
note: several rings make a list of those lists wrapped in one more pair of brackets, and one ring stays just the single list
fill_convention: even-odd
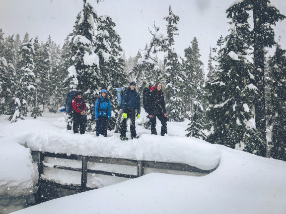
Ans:
[{"label": "dark wooden railing with posts and rails along the snow-covered bridge", "polygon": [[[101,175],[109,175],[115,177],[122,178],[137,178],[148,172],[146,169],[161,169],[161,171],[184,171],[184,172],[192,172],[197,174],[197,176],[203,176],[211,173],[215,170],[203,170],[199,169],[195,166],[190,166],[184,163],[173,163],[173,162],[157,162],[157,161],[149,161],[149,160],[129,160],[129,159],[119,159],[119,158],[103,158],[103,157],[93,157],[93,156],[81,156],[81,155],[67,155],[67,154],[59,154],[59,153],[50,153],[50,152],[42,152],[42,151],[31,151],[31,155],[34,157],[34,160],[38,162],[38,172],[39,172],[39,180],[38,185],[49,185],[54,187],[63,187],[68,189],[73,189],[75,192],[84,192],[91,189],[87,187],[87,175],[88,173],[93,174],[101,174]],[[57,164],[48,164],[44,162],[45,158],[56,158],[56,159],[66,159],[66,160],[77,160],[81,161],[81,167],[69,167]],[[88,163],[107,163],[112,165],[125,165],[125,166],[133,166],[137,167],[137,173],[119,173],[114,171],[107,170],[94,170],[88,168]],[[56,169],[70,170],[70,171],[78,171],[81,172],[81,182],[80,185],[61,185],[56,182],[48,181],[47,179],[43,179],[44,168],[52,167]],[[60,196],[61,197],[61,196]]]}]

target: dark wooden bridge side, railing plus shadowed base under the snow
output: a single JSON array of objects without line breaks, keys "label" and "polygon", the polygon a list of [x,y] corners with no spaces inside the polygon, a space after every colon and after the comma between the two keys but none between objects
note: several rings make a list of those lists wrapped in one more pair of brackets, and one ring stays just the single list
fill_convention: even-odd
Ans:
[{"label": "dark wooden bridge side, railing plus shadowed base under the snow", "polygon": [[[119,159],[119,158],[103,158],[103,157],[93,157],[93,156],[81,156],[81,155],[67,155],[67,154],[59,154],[59,153],[50,153],[50,152],[39,152],[39,151],[31,151],[32,158],[35,162],[38,163],[38,171],[39,171],[39,180],[38,180],[38,193],[37,193],[37,201],[44,202],[55,198],[60,198],[67,195],[72,195],[75,193],[80,193],[92,189],[96,189],[96,187],[87,187],[87,178],[88,174],[98,174],[98,175],[107,175],[113,177],[121,177],[121,178],[137,178],[144,174],[147,174],[148,169],[152,170],[160,170],[160,172],[168,173],[169,170],[177,171],[177,172],[188,172],[193,176],[204,176],[206,174],[211,173],[215,170],[203,170],[199,169],[195,166],[190,166],[188,164],[183,163],[171,163],[171,162],[156,162],[156,161],[147,161],[147,160],[128,160],[128,159]],[[76,160],[81,162],[81,167],[69,167],[63,165],[56,164],[48,164],[46,158],[55,158],[55,159],[64,159],[64,160]],[[112,165],[124,165],[124,166],[133,166],[137,167],[137,173],[118,173],[114,171],[107,170],[94,170],[88,167],[88,163],[107,163]],[[77,171],[81,172],[81,182],[80,184],[72,184],[72,185],[61,185],[54,181],[49,181],[44,179],[45,177],[45,167],[69,170],[69,171]],[[123,168],[124,169],[124,168]],[[176,173],[174,173],[176,174]]]}]

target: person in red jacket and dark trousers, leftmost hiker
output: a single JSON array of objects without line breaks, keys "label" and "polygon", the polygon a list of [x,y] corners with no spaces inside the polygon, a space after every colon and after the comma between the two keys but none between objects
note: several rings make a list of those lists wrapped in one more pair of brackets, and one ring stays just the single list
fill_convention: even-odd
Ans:
[{"label": "person in red jacket and dark trousers, leftmost hiker", "polygon": [[73,113],[73,133],[84,134],[86,128],[86,120],[85,120],[85,112],[86,112],[86,104],[82,98],[82,92],[80,90],[77,91],[76,97],[71,102]]}]

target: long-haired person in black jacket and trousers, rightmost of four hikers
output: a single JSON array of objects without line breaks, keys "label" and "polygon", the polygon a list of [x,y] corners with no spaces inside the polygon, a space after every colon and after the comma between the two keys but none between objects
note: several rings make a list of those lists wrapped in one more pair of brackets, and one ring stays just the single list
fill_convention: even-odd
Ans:
[{"label": "long-haired person in black jacket and trousers, rightmost of four hikers", "polygon": [[162,84],[157,83],[152,87],[150,96],[150,108],[148,114],[151,123],[151,134],[157,135],[156,130],[156,117],[161,121],[161,135],[167,133],[167,111],[165,106],[164,92],[162,92]]}]

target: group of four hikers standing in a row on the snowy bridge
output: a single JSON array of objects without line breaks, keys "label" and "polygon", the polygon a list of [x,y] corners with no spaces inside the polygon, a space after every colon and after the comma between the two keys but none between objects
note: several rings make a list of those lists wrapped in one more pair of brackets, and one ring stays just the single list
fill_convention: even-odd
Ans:
[{"label": "group of four hikers standing in a row on the snowy bridge", "polygon": [[[161,135],[167,133],[167,114],[164,100],[164,93],[162,91],[162,84],[159,82],[151,87],[147,93],[148,105],[145,107],[149,123],[151,124],[151,134],[157,135],[156,131],[156,118],[161,122]],[[86,127],[86,104],[82,97],[82,92],[77,91],[75,98],[72,100],[72,119],[73,119],[73,133],[84,134]],[[111,104],[110,99],[107,97],[107,90],[102,89],[100,96],[95,102],[95,120],[96,120],[96,136],[103,135],[107,137],[108,122],[111,118]],[[122,111],[123,121],[121,123],[121,140],[128,140],[126,131],[128,126],[128,119],[130,119],[130,132],[131,138],[138,138],[135,127],[135,119],[139,119],[141,112],[141,98],[136,91],[136,83],[131,82],[129,87],[122,97]]]}]

